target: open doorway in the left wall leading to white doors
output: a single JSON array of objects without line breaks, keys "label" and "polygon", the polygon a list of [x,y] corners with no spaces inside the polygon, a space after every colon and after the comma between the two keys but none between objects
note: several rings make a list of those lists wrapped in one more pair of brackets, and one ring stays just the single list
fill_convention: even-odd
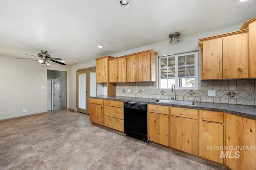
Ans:
[{"label": "open doorway in the left wall leading to white doors", "polygon": [[47,70],[47,110],[67,108],[66,71]]}]

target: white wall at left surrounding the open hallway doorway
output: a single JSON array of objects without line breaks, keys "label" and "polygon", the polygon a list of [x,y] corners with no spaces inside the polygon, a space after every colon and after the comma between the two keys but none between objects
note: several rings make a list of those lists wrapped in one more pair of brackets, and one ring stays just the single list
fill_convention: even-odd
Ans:
[{"label": "white wall at left surrounding the open hallway doorway", "polygon": [[33,59],[0,55],[0,119],[47,111],[47,69],[68,71],[68,66],[42,66]]}]

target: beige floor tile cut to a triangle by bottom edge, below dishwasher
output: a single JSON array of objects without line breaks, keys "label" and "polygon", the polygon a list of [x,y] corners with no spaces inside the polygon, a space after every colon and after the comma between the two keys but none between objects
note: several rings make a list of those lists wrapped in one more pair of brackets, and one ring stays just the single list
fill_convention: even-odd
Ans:
[{"label": "beige floor tile cut to a triangle by bottom edge, below dishwasher", "polygon": [[152,160],[137,156],[132,163],[128,166],[128,170],[165,170],[166,167],[162,166]]}]

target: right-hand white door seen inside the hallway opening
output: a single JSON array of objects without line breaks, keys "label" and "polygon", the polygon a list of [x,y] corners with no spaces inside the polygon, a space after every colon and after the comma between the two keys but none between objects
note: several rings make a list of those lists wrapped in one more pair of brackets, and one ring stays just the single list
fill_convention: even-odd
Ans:
[{"label": "right-hand white door seen inside the hallway opening", "polygon": [[61,79],[54,79],[54,110],[60,110],[61,108]]}]

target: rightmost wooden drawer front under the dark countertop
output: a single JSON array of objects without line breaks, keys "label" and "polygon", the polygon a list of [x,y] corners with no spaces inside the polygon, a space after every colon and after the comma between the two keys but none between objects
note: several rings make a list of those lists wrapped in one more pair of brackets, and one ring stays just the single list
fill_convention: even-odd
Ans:
[{"label": "rightmost wooden drawer front under the dark countertop", "polygon": [[202,120],[223,123],[223,113],[220,111],[202,110]]}]

